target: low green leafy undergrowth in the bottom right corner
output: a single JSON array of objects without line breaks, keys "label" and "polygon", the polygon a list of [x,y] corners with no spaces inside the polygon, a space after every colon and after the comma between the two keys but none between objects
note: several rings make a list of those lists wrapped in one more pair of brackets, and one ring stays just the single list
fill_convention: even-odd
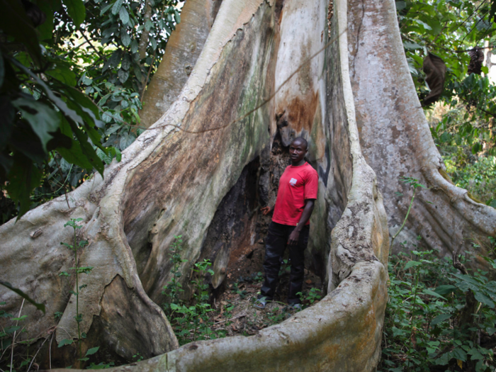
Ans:
[{"label": "low green leafy undergrowth in the bottom right corner", "polygon": [[378,371],[495,371],[496,282],[465,259],[420,250],[390,259]]}]

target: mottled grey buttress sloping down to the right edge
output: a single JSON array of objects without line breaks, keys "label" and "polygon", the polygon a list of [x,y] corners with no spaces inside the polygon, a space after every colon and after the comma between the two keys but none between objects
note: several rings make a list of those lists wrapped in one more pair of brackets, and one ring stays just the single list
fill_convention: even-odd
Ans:
[{"label": "mottled grey buttress sloping down to the right edge", "polygon": [[451,257],[463,235],[463,251],[475,254],[472,266],[487,269],[482,256],[491,254],[488,237],[496,236],[496,210],[470,199],[446,176],[408,72],[394,1],[350,0],[349,13],[350,77],[361,148],[376,171],[392,235],[412,198],[400,178],[413,177],[428,187],[417,189],[393,252],[405,241],[414,249],[420,236],[420,244]]}]

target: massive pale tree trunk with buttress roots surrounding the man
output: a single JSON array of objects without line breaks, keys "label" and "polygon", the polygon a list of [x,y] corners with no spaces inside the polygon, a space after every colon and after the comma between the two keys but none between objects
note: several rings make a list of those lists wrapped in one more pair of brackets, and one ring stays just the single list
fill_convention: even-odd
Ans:
[{"label": "massive pale tree trunk with buttress roots surrounding the man", "polygon": [[[212,1],[191,4],[208,9]],[[327,11],[329,4],[334,15]],[[59,359],[57,366],[68,365],[74,349],[57,349],[55,339],[77,334],[76,303],[69,293],[75,283],[58,276],[74,265],[72,255],[60,245],[72,237],[72,230],[63,227],[69,218],[83,219],[79,238],[89,245],[80,254],[80,264],[94,266],[83,276],[87,287],[79,300],[85,348],[101,346],[99,352],[123,361],[136,352],[156,356],[128,367],[140,371],[371,371],[376,366],[389,249],[380,190],[385,191],[386,207],[392,208],[399,187],[395,185],[400,185],[383,167],[402,171],[401,164],[388,157],[381,163],[381,149],[388,149],[391,156],[398,152],[405,163],[422,164],[418,171],[430,159],[423,151],[434,154],[435,149],[426,145],[429,138],[420,129],[410,130],[418,137],[405,135],[401,141],[367,132],[380,122],[379,128],[395,133],[393,119],[398,115],[405,128],[425,126],[419,102],[412,96],[410,74],[402,67],[400,47],[392,48],[395,63],[385,52],[363,52],[373,48],[364,43],[385,43],[382,38],[398,43],[394,2],[329,4],[223,0],[179,96],[125,150],[122,161],[107,167],[104,179],[96,175],[70,193],[69,207],[65,198],[57,198],[0,227],[1,279],[47,306],[45,315],[30,307],[23,313],[28,315],[29,337],[39,339],[38,344],[50,339],[55,328],[51,356]],[[357,13],[362,9],[363,14]],[[183,25],[187,24],[185,15]],[[198,28],[208,32],[204,26]],[[373,64],[367,65],[372,58]],[[373,94],[366,90],[368,79],[380,86],[386,78],[393,79],[390,85]],[[404,95],[401,104],[388,91],[397,80]],[[308,262],[327,280],[327,296],[256,336],[177,349],[159,308],[162,288],[171,278],[169,246],[174,235],[184,240],[181,254],[186,262],[181,271],[188,272],[197,259],[209,258],[215,270],[212,285],[219,286],[239,244],[263,237],[257,225],[264,219],[257,210],[274,201],[278,175],[287,164],[284,148],[296,135],[308,137],[308,160],[319,174]],[[378,181],[366,160],[376,167]],[[436,176],[429,169],[424,174],[431,177],[426,176],[427,181]],[[451,205],[444,198],[436,206],[452,218],[461,214],[457,203],[468,202],[456,200]],[[477,208],[473,213],[479,214],[470,220],[466,213],[466,219],[474,230],[494,235],[490,220],[494,210]],[[394,216],[402,218],[400,212]],[[410,230],[421,227],[419,218],[416,221],[418,226],[414,223]],[[187,288],[188,276],[182,278]],[[0,291],[0,301],[7,303],[4,309],[18,310],[18,296]],[[63,312],[60,321],[54,312]],[[49,344],[40,351],[44,366]],[[157,356],[162,353],[167,354]]]}]

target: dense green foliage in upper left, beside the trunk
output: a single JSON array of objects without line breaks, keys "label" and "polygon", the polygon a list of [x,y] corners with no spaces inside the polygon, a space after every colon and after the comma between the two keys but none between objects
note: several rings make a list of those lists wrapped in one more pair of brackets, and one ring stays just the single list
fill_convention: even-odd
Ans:
[{"label": "dense green foliage in upper left, beside the trunk", "polygon": [[1,0],[1,222],[63,195],[140,134],[178,0]]}]

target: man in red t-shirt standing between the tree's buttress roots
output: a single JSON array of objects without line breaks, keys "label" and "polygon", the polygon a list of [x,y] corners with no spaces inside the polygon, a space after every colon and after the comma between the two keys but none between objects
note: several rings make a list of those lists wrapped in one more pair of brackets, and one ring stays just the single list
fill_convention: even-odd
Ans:
[{"label": "man in red t-shirt standing between the tree's buttress roots", "polygon": [[301,300],[296,293],[302,291],[305,275],[303,253],[308,244],[310,215],[317,198],[318,187],[317,171],[305,162],[307,152],[308,142],[303,137],[297,137],[291,142],[291,165],[286,167],[279,180],[276,205],[261,208],[264,215],[273,210],[274,215],[266,237],[265,281],[255,303],[257,308],[265,308],[266,302],[274,298],[281,257],[286,246],[289,248],[291,260],[288,305],[301,308]]}]

